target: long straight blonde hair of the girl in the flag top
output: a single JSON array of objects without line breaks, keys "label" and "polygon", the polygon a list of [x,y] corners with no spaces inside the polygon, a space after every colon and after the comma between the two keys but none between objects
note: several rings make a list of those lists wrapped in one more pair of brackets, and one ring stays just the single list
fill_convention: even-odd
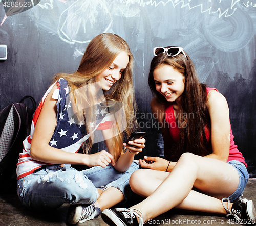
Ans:
[{"label": "long straight blonde hair of the girl in the flag top", "polygon": [[[133,55],[126,41],[112,33],[103,33],[92,39],[84,52],[76,72],[70,74],[58,73],[53,77],[53,82],[56,82],[60,78],[66,79],[68,81],[71,94],[75,93],[78,88],[85,87],[84,92],[79,92],[79,96],[72,96],[72,98],[75,99],[75,107],[77,108],[76,112],[80,112],[82,117],[84,117],[84,104],[90,106],[92,103],[92,99],[88,98],[91,95],[88,94],[90,94],[90,90],[96,82],[95,77],[101,74],[106,68],[109,68],[117,55],[123,51],[125,51],[129,56],[129,63],[127,64],[126,69],[122,72],[121,78],[115,82],[109,91],[104,92],[104,95],[106,102],[121,102],[125,112],[126,124],[135,125],[136,105],[132,78],[132,69],[134,64]],[[93,121],[95,116],[92,108],[89,115],[91,118],[84,118],[84,121]],[[86,123],[86,125],[87,133],[92,132],[88,123]],[[118,129],[118,127],[116,128]],[[126,127],[124,132],[119,131],[118,136],[114,137],[115,159],[118,159],[121,155],[124,136],[129,135],[132,131],[133,128]],[[93,144],[92,139],[93,138],[90,137],[87,142],[84,142],[84,153],[88,153],[91,149]]]}]

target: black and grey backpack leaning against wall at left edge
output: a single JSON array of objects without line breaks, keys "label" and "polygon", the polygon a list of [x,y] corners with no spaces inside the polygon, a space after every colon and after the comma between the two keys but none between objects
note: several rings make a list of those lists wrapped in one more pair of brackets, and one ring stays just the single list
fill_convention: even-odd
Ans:
[{"label": "black and grey backpack leaning against wall at left edge", "polygon": [[[32,101],[32,108],[27,107],[25,99]],[[0,193],[16,192],[16,164],[23,141],[30,134],[35,108],[35,99],[25,96],[0,112]]]}]

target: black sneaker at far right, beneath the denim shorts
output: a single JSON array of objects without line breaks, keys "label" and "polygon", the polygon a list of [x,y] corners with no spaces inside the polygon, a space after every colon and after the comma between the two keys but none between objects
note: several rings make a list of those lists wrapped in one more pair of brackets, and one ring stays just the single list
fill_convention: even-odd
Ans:
[{"label": "black sneaker at far right, beneath the denim shorts", "polygon": [[[226,208],[226,206],[224,205],[224,202],[228,202],[228,208]],[[241,222],[242,224],[249,223],[249,220],[256,219],[256,211],[252,203],[252,200],[248,201],[246,198],[237,199],[233,203],[231,211],[229,210],[230,201],[228,198],[222,199],[222,205],[225,208],[225,210],[228,212],[227,217],[232,216],[234,219],[238,220],[238,222]]]}]

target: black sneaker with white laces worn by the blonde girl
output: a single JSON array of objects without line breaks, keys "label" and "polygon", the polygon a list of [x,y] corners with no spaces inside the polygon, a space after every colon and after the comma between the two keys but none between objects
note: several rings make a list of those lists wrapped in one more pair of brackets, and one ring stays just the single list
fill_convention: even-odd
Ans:
[{"label": "black sneaker with white laces worn by the blonde girl", "polygon": [[92,220],[94,217],[97,217],[97,216],[99,216],[99,213],[94,204],[70,205],[68,215],[67,215],[67,223],[69,224],[83,223],[83,222],[86,222],[87,220]]}]

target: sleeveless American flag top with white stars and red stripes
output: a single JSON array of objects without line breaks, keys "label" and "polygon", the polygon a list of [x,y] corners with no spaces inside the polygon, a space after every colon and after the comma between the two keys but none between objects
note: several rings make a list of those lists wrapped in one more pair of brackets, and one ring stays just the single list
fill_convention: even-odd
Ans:
[{"label": "sleeveless American flag top with white stars and red stripes", "polygon": [[[77,121],[77,117],[70,114],[70,112],[72,112],[72,105],[71,102],[67,103],[66,101],[66,99],[68,99],[67,96],[69,95],[68,82],[61,78],[56,83],[58,88],[54,91],[52,98],[57,99],[57,125],[49,145],[66,152],[76,153],[78,152],[82,143],[90,137],[90,134],[86,134],[86,127],[84,123],[82,121]],[[40,115],[42,105],[44,104],[47,95],[54,85],[55,83],[47,90],[35,111],[33,123],[31,125],[31,133],[23,142],[23,153],[20,153],[19,156],[16,170],[17,179],[31,174],[36,169],[47,164],[33,160],[30,157],[30,147],[34,128]],[[113,114],[112,116],[109,114],[108,108],[106,108],[104,104],[95,105],[95,116],[96,121],[90,122],[90,126],[93,127],[92,132],[95,130],[105,130],[111,128],[113,124]]]}]

